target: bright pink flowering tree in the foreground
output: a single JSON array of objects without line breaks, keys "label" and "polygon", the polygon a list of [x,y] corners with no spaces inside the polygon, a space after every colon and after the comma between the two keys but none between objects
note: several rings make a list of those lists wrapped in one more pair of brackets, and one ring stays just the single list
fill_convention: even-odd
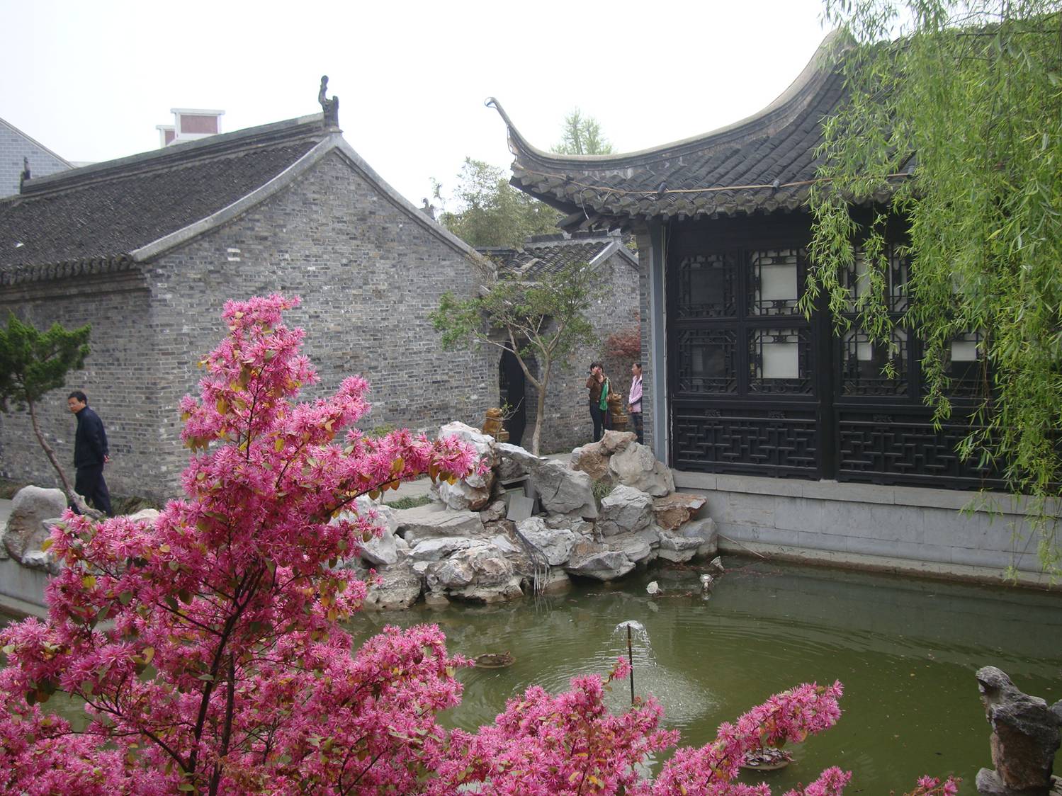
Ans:
[{"label": "bright pink flowering tree in the foreground", "polygon": [[[422,472],[466,474],[475,454],[407,431],[362,437],[360,379],[296,402],[315,381],[302,331],[281,321],[296,302],[226,305],[228,336],[201,363],[199,399],[182,402],[185,500],[155,521],[68,514],[53,531],[65,567],[48,620],[0,633],[0,791],[763,795],[732,782],[741,756],[837,721],[839,683],[801,686],[651,780],[646,761],[676,733],[660,729],[651,699],[621,715],[604,707],[620,660],[559,695],[529,689],[476,733],[440,727],[466,661],[439,628],[388,627],[354,650],[340,625],[365,594],[340,561],[379,533],[345,509]],[[84,703],[83,723],[41,707],[57,693]],[[788,796],[835,796],[849,776],[828,768]],[[919,788],[954,794],[950,780]]]}]

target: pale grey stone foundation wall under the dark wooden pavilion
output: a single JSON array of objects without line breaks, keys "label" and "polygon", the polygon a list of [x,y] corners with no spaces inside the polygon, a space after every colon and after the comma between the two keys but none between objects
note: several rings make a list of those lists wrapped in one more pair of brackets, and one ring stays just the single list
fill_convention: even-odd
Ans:
[{"label": "pale grey stone foundation wall under the dark wooden pavilion", "polygon": [[[1000,582],[1013,565],[1047,585],[1022,499],[947,489],[674,473],[675,488],[703,495],[719,546],[801,560]],[[1015,535],[1016,532],[1016,535]]]}]

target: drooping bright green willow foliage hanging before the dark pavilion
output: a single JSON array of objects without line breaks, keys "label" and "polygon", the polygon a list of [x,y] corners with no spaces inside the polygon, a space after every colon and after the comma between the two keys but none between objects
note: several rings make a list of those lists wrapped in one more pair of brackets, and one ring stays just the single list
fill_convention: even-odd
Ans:
[{"label": "drooping bright green willow foliage hanging before the dark pavilion", "polygon": [[[825,294],[845,323],[840,275],[862,246],[871,289],[857,323],[888,342],[885,231],[890,217],[906,220],[911,300],[900,323],[923,341],[935,421],[969,420],[960,454],[1031,496],[1040,558],[1057,575],[1062,3],[826,0],[825,18],[846,34],[849,100],[824,122],[804,309]],[[876,209],[863,219],[860,205]],[[969,333],[980,335],[972,413],[948,400],[950,343]]]}]

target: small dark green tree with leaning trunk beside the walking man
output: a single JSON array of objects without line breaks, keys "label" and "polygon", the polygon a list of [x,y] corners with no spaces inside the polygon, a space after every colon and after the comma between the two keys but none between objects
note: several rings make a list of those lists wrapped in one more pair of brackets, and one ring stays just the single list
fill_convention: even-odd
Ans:
[{"label": "small dark green tree with leaning trunk beside the walking man", "polygon": [[90,326],[68,331],[59,324],[52,324],[48,331],[41,332],[31,324],[23,324],[13,312],[7,313],[7,328],[0,329],[0,412],[14,406],[30,413],[37,442],[55,468],[67,497],[82,512],[87,509],[85,501],[71,488],[55,451],[45,439],[36,408],[48,393],[66,383],[68,373],[84,367],[90,332]]}]

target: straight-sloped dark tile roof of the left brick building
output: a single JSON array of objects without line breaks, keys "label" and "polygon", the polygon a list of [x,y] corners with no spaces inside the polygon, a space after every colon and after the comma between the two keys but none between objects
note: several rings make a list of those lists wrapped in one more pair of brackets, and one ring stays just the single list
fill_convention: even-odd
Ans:
[{"label": "straight-sloped dark tile roof of the left brick building", "polygon": [[318,115],[31,179],[0,201],[0,283],[127,261],[269,183],[326,134]]}]

